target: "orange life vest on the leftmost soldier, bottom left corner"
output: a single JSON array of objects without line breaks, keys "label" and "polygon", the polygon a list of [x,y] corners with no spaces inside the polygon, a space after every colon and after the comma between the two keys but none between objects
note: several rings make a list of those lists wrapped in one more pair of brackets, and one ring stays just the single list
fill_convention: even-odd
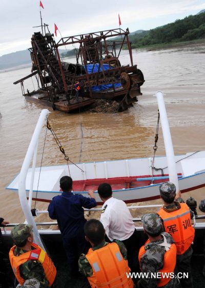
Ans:
[{"label": "orange life vest on the leftmost soldier, bottom left corner", "polygon": [[40,248],[40,246],[32,243],[32,247],[35,248],[34,250],[28,251],[19,256],[15,256],[14,255],[15,247],[16,246],[13,246],[10,249],[9,259],[10,259],[11,267],[13,269],[15,277],[20,283],[20,285],[23,285],[26,280],[20,276],[20,270],[19,270],[20,265],[24,264],[28,260],[36,260],[42,263],[42,266],[44,268],[46,278],[49,281],[49,287],[50,287],[55,280],[56,268],[53,262],[51,261],[51,259],[48,257],[47,253],[42,248]]}]

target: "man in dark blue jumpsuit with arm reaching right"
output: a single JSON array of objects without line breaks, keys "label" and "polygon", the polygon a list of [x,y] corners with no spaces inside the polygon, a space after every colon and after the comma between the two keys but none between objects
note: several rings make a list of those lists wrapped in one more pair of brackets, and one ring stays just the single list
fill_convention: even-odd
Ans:
[{"label": "man in dark blue jumpsuit with arm reaching right", "polygon": [[84,225],[86,219],[83,207],[93,208],[96,206],[96,201],[94,192],[89,192],[91,198],[81,194],[73,194],[71,192],[72,184],[71,177],[63,176],[60,178],[60,188],[63,193],[53,197],[48,206],[48,212],[51,219],[57,219],[71,274],[76,276],[79,256],[82,253],[87,254],[90,248],[85,239]]}]

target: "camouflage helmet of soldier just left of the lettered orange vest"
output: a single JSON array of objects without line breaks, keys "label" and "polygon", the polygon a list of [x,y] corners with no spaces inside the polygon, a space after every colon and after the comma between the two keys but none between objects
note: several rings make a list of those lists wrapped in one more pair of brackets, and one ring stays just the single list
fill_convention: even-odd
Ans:
[{"label": "camouflage helmet of soldier just left of the lettered orange vest", "polygon": [[159,215],[155,213],[149,213],[142,215],[141,222],[144,225],[145,230],[151,234],[157,234],[162,231],[162,221]]}]

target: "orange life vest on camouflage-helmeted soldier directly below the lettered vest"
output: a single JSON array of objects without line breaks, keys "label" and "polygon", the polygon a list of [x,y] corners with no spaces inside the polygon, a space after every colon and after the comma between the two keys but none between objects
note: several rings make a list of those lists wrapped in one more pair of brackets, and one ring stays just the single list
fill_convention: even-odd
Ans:
[{"label": "orange life vest on camouflage-helmeted soldier directly below the lettered vest", "polygon": [[[140,264],[141,257],[146,253],[145,246],[148,243],[150,243],[149,239],[147,240],[145,245],[141,246],[141,248],[139,249],[139,256],[138,256],[139,264]],[[158,271],[161,275],[161,278],[159,279],[157,283],[157,287],[162,287],[162,286],[165,286],[167,283],[169,283],[171,278],[166,277],[165,273],[174,273],[175,265],[176,265],[176,245],[170,244],[169,250],[166,251],[163,257],[163,268]]]}]

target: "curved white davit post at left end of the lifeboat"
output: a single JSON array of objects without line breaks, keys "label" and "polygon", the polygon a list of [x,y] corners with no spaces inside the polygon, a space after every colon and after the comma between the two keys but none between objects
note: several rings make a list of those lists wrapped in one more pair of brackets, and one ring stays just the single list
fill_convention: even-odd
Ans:
[{"label": "curved white davit post at left end of the lifeboat", "polygon": [[[28,224],[33,225],[33,238],[34,238],[34,243],[40,245],[43,249],[45,249],[42,241],[40,240],[40,235],[38,233],[35,221],[33,219],[33,216],[31,214],[31,209],[29,207],[29,203],[27,201],[27,196],[26,196],[26,176],[27,172],[32,160],[32,157],[34,156],[34,151],[36,149],[37,143],[38,143],[38,137],[40,135],[40,132],[42,131],[43,124],[45,123],[45,119],[48,116],[49,111],[47,109],[42,110],[40,113],[40,117],[38,118],[38,122],[36,124],[35,130],[33,132],[33,136],[31,138],[31,142],[29,144],[29,148],[27,150],[24,163],[22,165],[22,169],[20,170],[20,175],[19,175],[19,182],[18,182],[18,196],[20,200],[20,205],[22,206],[22,210],[24,211],[26,221]],[[34,173],[33,173],[34,177]],[[33,181],[31,179],[31,181]],[[31,196],[32,198],[32,196]]]}]

